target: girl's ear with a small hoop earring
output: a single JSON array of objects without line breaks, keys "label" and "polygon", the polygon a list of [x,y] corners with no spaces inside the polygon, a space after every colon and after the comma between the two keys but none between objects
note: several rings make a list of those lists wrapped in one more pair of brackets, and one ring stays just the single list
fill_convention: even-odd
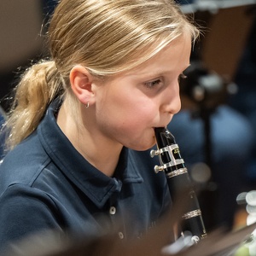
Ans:
[{"label": "girl's ear with a small hoop earring", "polygon": [[73,93],[84,105],[92,103],[94,93],[91,90],[92,76],[82,65],[76,65],[69,74],[71,88]]}]

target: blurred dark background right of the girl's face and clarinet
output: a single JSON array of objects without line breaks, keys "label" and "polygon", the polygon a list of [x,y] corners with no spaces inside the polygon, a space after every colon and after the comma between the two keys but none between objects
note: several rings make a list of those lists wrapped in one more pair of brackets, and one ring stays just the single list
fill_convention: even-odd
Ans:
[{"label": "blurred dark background right of the girl's face and clarinet", "polygon": [[236,229],[256,216],[256,201],[247,200],[256,190],[256,2],[177,2],[202,35],[180,83],[183,109],[169,128],[204,189],[208,230]]}]

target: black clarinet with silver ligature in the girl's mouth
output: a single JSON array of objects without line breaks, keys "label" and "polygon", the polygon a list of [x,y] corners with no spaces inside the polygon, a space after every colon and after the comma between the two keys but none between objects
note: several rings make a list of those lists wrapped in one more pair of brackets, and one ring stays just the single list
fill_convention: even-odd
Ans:
[{"label": "black clarinet with silver ligature in the girl's mouth", "polygon": [[[163,127],[155,128],[154,133],[157,150],[151,150],[150,155],[151,157],[158,155],[160,159],[160,166],[154,166],[154,172],[164,171],[166,173],[168,188],[173,199],[182,188],[192,187],[189,172],[172,133]],[[184,212],[182,216],[181,236],[184,231],[189,231],[192,235],[191,241],[197,243],[207,236],[207,232],[194,189],[189,189],[188,196],[188,212]]]}]

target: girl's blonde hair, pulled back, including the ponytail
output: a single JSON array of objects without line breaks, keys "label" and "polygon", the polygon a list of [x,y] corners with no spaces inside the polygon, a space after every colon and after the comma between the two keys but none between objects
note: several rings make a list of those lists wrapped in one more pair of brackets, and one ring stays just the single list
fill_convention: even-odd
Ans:
[{"label": "girl's blonde hair, pulled back, including the ponytail", "polygon": [[137,67],[183,32],[192,41],[199,34],[172,0],[61,0],[49,25],[49,61],[30,67],[16,88],[9,148],[37,128],[55,97],[73,102],[75,64],[106,78]]}]

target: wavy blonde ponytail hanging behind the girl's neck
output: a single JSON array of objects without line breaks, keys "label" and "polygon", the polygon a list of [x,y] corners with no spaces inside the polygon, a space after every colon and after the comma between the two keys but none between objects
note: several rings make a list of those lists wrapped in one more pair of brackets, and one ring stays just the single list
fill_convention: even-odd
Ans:
[{"label": "wavy blonde ponytail hanging behind the girl's neck", "polygon": [[12,149],[28,137],[44,117],[49,103],[63,94],[63,81],[54,61],[41,61],[26,70],[15,88],[15,99],[5,129]]}]

